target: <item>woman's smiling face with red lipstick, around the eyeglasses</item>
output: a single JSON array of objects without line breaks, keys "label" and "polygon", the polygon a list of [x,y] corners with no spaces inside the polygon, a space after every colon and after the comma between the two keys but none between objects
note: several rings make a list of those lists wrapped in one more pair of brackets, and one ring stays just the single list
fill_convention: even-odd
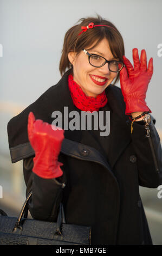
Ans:
[{"label": "woman's smiling face with red lipstick, around the eyeglasses", "polygon": [[[89,47],[91,48],[91,47]],[[107,39],[103,39],[97,46],[91,50],[86,50],[89,53],[99,54],[107,60],[118,60],[114,58]],[[111,72],[108,69],[108,63],[95,68],[89,64],[88,55],[81,51],[77,56],[74,52],[69,52],[68,58],[73,64],[73,78],[74,81],[81,86],[83,92],[87,96],[96,97],[101,94],[112,83],[118,73]]]}]

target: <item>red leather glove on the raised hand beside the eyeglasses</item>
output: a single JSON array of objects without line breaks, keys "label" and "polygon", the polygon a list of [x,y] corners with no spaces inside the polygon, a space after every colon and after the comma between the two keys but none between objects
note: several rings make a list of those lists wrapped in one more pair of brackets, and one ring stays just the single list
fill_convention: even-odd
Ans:
[{"label": "red leather glove on the raised hand beside the eyeglasses", "polygon": [[151,80],[153,74],[153,58],[148,62],[145,50],[141,51],[139,60],[138,49],[133,49],[133,62],[134,68],[129,60],[123,56],[124,64],[126,68],[122,68],[120,71],[120,84],[121,92],[124,96],[126,103],[126,115],[130,115],[132,112],[149,111],[150,108],[146,105],[146,92],[148,83]]}]

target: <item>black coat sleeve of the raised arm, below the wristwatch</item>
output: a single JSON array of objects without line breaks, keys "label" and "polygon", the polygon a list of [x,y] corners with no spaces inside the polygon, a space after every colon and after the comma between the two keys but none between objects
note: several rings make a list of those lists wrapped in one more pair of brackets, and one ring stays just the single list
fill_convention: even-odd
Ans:
[{"label": "black coat sleeve of the raised arm, below the wristwatch", "polygon": [[162,184],[162,151],[155,119],[151,115],[150,137],[145,125],[133,123],[132,142],[137,156],[139,185],[156,188]]}]

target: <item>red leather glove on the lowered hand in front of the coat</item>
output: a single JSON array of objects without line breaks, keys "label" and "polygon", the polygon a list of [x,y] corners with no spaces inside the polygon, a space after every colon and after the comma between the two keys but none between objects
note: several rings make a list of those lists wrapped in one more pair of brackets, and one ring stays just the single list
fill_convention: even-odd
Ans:
[{"label": "red leather glove on the lowered hand in front of the coat", "polygon": [[30,112],[28,137],[35,151],[33,172],[41,178],[57,178],[63,174],[60,168],[63,163],[57,161],[64,138],[63,133],[64,130],[60,127],[59,130],[53,130],[50,124],[35,120],[33,112]]}]

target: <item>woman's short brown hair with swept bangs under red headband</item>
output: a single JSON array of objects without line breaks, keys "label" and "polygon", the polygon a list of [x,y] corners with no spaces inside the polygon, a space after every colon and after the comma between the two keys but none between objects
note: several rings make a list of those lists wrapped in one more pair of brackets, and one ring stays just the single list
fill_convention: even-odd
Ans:
[{"label": "woman's short brown hair with swept bangs under red headband", "polygon": [[[89,46],[92,46],[93,42],[95,43],[93,47],[95,47],[104,38],[108,40],[109,47],[113,56],[115,58],[119,58],[119,60],[122,61],[122,56],[125,54],[124,41],[120,32],[113,25],[112,22],[102,19],[102,17],[99,15],[97,15],[96,18],[82,18],[78,22],[80,23],[70,28],[64,36],[62,56],[59,66],[61,76],[64,74],[66,69],[72,68],[72,65],[70,64],[68,59],[69,52],[76,52],[77,56],[77,54],[79,54],[83,48],[88,48]],[[83,32],[79,35],[79,33],[82,31],[81,26],[86,27],[90,22],[93,22],[94,25],[108,25],[115,28],[116,30],[109,27],[94,27],[93,29],[88,29],[86,32]],[[90,48],[88,50],[90,50]],[[118,82],[118,80],[119,73],[116,76],[113,84]]]}]

